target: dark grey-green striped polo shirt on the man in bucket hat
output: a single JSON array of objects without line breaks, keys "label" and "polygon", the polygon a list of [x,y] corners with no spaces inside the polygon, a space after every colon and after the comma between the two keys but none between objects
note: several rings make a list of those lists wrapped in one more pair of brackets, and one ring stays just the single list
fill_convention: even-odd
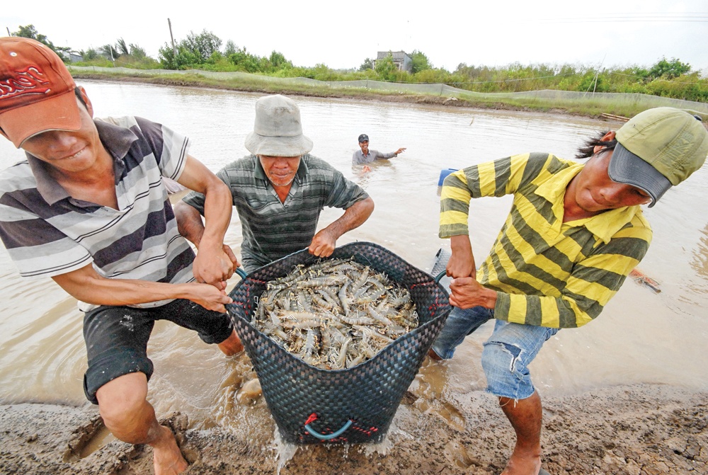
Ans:
[{"label": "dark grey-green striped polo shirt on the man in bucket hat", "polygon": [[[307,248],[324,207],[346,209],[369,197],[336,168],[310,154],[300,159],[285,203],[255,155],[224,166],[217,176],[231,188],[244,236],[241,261],[249,272]],[[190,193],[183,200],[204,213],[200,193]]]}]

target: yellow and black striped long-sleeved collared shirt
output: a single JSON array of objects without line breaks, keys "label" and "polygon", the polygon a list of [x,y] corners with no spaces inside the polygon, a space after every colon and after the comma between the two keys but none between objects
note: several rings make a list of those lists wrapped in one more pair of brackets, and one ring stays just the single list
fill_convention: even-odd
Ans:
[{"label": "yellow and black striped long-sleeved collared shirt", "polygon": [[498,292],[494,316],[575,328],[600,314],[651,242],[639,206],[563,222],[563,200],[583,164],[551,154],[515,155],[445,178],[440,237],[469,234],[469,200],[514,196],[477,280]]}]

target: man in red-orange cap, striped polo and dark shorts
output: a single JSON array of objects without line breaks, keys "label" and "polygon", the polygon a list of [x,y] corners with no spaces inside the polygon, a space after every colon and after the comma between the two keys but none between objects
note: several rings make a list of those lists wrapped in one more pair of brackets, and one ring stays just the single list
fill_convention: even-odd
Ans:
[{"label": "man in red-orange cap, striped polo and dark shorts", "polygon": [[[0,174],[0,238],[23,277],[52,277],[79,300],[84,391],[105,426],[151,445],[156,474],[179,473],[187,462],[147,401],[147,342],[154,321],[167,319],[227,355],[243,348],[224,308],[229,190],[188,155],[186,137],[142,118],[92,117],[86,91],[52,50],[0,38],[0,133],[27,156]],[[197,258],[163,177],[207,197]]]}]

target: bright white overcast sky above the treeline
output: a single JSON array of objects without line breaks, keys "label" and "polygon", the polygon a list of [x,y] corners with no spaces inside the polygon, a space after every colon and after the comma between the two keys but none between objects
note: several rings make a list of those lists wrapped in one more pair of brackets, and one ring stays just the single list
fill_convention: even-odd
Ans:
[{"label": "bright white overcast sky above the treeline", "polygon": [[170,42],[169,18],[176,42],[207,30],[222,39],[222,48],[232,40],[258,56],[281,52],[304,67],[355,69],[378,51],[418,50],[448,71],[460,63],[648,67],[666,57],[708,75],[706,0],[157,3],[56,8],[36,0],[32,8],[3,8],[1,33],[32,24],[55,45],[74,50],[123,38],[157,59]]}]

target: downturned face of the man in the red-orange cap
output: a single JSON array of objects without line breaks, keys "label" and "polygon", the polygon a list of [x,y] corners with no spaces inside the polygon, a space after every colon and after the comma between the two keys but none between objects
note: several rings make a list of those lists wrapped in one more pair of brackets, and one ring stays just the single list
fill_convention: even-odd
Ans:
[{"label": "downturned face of the man in the red-orange cap", "polygon": [[96,163],[102,149],[96,125],[91,117],[93,108],[89,98],[84,96],[86,107],[79,103],[81,128],[79,130],[47,130],[25,139],[21,149],[50,164],[55,170],[65,173],[86,171]]}]

